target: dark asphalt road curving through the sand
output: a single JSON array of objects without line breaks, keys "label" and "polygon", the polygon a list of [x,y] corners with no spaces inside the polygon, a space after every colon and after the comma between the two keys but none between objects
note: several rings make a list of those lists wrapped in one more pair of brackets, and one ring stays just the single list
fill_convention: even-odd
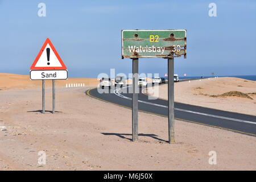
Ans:
[{"label": "dark asphalt road curving through the sand", "polygon": [[[131,90],[129,87],[130,85],[125,88],[105,89],[107,93],[99,93],[96,88],[87,90],[86,94],[101,101],[131,109],[132,94],[129,93],[129,89]],[[253,115],[232,113],[178,102],[175,102],[174,107],[175,119],[256,137],[256,117]],[[138,109],[145,113],[168,117],[167,101],[160,99],[148,100],[148,96],[141,93],[141,89],[138,98]]]}]

